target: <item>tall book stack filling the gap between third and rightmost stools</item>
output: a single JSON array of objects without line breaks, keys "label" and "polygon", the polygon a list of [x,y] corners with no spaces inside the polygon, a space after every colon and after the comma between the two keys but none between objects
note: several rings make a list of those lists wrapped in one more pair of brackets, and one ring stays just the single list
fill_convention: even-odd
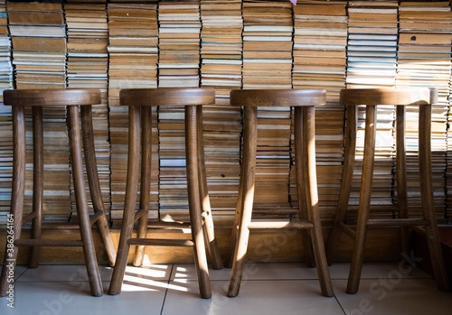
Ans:
[{"label": "tall book stack filling the gap between third and rightmost stools", "polygon": [[[293,86],[326,90],[327,104],[315,108],[317,185],[325,215],[334,212],[341,182],[344,107],[339,107],[338,101],[340,89],[345,88],[345,5],[344,1],[331,5],[299,1],[294,6]],[[292,196],[296,196],[295,178],[291,182]]]}]

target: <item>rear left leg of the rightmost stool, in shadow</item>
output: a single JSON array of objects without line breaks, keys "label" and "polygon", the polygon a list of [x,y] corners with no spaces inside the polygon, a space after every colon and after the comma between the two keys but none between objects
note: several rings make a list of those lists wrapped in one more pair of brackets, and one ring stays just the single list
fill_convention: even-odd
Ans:
[{"label": "rear left leg of the rightmost stool, in shadow", "polygon": [[358,125],[357,114],[358,107],[347,107],[344,133],[344,166],[342,171],[341,188],[339,190],[339,198],[337,201],[333,227],[329,233],[325,248],[328,264],[333,263],[334,252],[342,234],[341,226],[344,223],[350,199],[350,190],[352,188],[353,181],[354,156],[356,151],[356,128]]}]

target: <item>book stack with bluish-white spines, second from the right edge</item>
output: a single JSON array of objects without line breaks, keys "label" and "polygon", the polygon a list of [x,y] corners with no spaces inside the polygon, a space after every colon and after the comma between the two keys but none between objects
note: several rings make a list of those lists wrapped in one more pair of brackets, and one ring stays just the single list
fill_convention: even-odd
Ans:
[{"label": "book stack with bluish-white spines, second from the right edge", "polygon": [[[347,88],[393,88],[397,67],[397,1],[349,2],[347,42]],[[386,218],[391,213],[384,206],[392,204],[393,187],[393,106],[377,107],[377,134],[375,148],[372,213]],[[365,109],[358,109],[358,139],[355,178],[351,204],[358,204],[363,159]]]}]

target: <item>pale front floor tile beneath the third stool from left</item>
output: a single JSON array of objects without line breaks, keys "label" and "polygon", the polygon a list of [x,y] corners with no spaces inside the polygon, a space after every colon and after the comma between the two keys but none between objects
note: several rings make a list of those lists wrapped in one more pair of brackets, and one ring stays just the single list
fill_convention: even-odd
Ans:
[{"label": "pale front floor tile beneath the third stool from left", "polygon": [[[181,305],[184,314],[341,314],[344,312],[334,298],[320,294],[317,281],[250,281],[242,283],[239,296],[226,296],[229,282],[212,282],[212,299],[199,297],[198,283],[178,280],[172,283],[185,285],[187,292],[172,290],[165,299],[163,315],[178,315]],[[171,283],[170,283],[171,284]]]}]

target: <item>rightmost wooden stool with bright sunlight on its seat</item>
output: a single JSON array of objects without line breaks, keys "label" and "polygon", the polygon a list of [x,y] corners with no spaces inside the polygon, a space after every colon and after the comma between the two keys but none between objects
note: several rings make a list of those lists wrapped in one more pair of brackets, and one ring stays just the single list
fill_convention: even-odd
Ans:
[{"label": "rightmost wooden stool with bright sunlight on its seat", "polygon": [[[329,262],[333,260],[334,249],[338,245],[341,232],[354,239],[352,263],[348,278],[347,292],[358,292],[363,267],[363,250],[367,227],[401,227],[402,247],[407,250],[407,227],[425,227],[421,229],[428,240],[428,249],[438,288],[447,291],[447,273],[443,264],[441,244],[438,238],[437,218],[433,202],[431,171],[430,134],[431,104],[436,102],[437,90],[429,88],[350,88],[341,90],[340,104],[347,107],[344,140],[344,170],[341,190],[330,232],[326,253]],[[356,149],[357,111],[359,105],[365,105],[365,138],[363,152],[363,173],[356,228],[344,224],[348,208],[353,178],[353,163]],[[375,153],[375,135],[378,105],[396,106],[396,175],[397,204],[392,209],[399,212],[399,218],[369,219],[371,207],[373,162]],[[405,107],[419,107],[419,184],[423,218],[409,218],[407,198],[407,171],[405,153]],[[405,253],[410,256],[410,253]]]}]

